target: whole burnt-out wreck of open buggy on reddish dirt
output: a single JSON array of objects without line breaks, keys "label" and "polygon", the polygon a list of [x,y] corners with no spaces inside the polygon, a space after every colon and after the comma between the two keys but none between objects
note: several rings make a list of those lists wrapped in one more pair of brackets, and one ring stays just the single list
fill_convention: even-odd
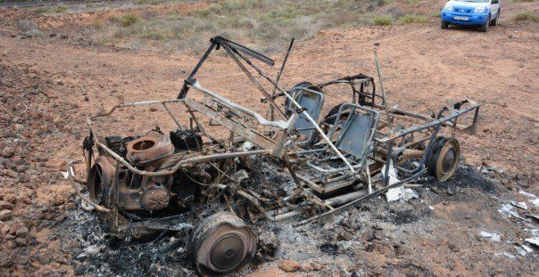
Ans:
[{"label": "whole burnt-out wreck of open buggy on reddish dirt", "polygon": [[[434,116],[389,108],[383,87],[379,94],[374,78],[363,74],[286,90],[278,82],[293,42],[273,79],[261,69],[274,66],[270,58],[213,37],[177,99],[121,103],[88,118],[86,181],[75,177],[74,163],[68,169],[83,204],[118,237],[185,233],[196,270],[228,273],[253,259],[250,224],[257,220],[310,224],[422,175],[453,175],[460,159],[455,131],[475,132],[479,104],[456,102]],[[220,49],[268,109],[247,109],[195,79]],[[332,91],[352,99],[323,114]],[[96,124],[148,106],[161,107],[175,129],[105,136]],[[172,106],[183,112],[174,114]],[[210,132],[215,127],[225,132]]]}]

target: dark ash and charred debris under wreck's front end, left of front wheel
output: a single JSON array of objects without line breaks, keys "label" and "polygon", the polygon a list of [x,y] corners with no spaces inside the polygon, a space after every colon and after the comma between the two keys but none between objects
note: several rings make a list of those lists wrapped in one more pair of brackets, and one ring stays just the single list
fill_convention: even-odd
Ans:
[{"label": "dark ash and charred debris under wreck's front end, left of front wheel", "polygon": [[[70,211],[56,236],[71,249],[76,275],[186,276],[194,275],[186,262],[185,245],[177,236],[162,233],[140,240],[119,240],[94,213]],[[173,245],[174,249],[170,249]]]}]

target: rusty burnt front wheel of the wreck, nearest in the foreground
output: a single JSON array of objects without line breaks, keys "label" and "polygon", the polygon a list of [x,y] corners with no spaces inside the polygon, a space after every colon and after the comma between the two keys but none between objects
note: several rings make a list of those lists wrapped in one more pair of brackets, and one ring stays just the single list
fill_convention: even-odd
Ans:
[{"label": "rusty burnt front wheel of the wreck, nearest in the foreground", "polygon": [[196,226],[188,254],[199,273],[224,274],[250,263],[256,248],[251,227],[231,213],[220,212]]}]

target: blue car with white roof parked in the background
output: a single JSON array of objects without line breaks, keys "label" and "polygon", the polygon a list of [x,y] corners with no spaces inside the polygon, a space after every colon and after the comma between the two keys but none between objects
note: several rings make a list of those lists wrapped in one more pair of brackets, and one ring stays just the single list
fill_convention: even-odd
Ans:
[{"label": "blue car with white roof parked in the background", "polygon": [[450,0],[440,12],[442,29],[449,24],[479,26],[486,32],[489,26],[496,26],[500,18],[500,0]]}]

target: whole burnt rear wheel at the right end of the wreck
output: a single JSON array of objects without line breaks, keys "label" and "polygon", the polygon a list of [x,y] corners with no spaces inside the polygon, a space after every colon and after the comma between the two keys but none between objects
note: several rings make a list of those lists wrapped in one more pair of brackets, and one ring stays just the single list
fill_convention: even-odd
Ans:
[{"label": "whole burnt rear wheel at the right end of the wreck", "polygon": [[438,181],[446,181],[459,167],[460,144],[455,138],[435,138],[427,155],[427,169]]}]

